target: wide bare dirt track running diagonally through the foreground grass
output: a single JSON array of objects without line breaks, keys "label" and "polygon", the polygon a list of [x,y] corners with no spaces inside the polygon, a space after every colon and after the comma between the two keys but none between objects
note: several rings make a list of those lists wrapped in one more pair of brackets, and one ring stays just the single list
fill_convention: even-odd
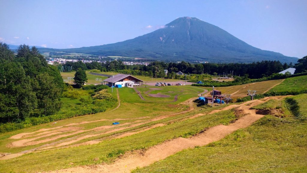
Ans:
[{"label": "wide bare dirt track running diagonally through the foreground grass", "polygon": [[[252,102],[255,103],[255,102]],[[228,126],[218,125],[211,127],[207,131],[200,133],[192,138],[177,138],[171,141],[167,141],[149,148],[144,153],[133,153],[124,155],[124,158],[117,159],[113,164],[103,164],[95,166],[82,166],[82,167],[71,167],[62,169],[59,171],[52,171],[54,173],[94,173],[94,172],[130,172],[137,167],[145,167],[161,159],[173,155],[179,151],[187,148],[193,148],[195,146],[204,146],[208,143],[218,141],[224,138],[226,135],[236,131],[240,128],[245,128],[262,118],[264,115],[256,114],[255,110],[250,110],[251,106],[241,105],[240,109],[244,113],[248,113],[244,117],[235,121]]]}]

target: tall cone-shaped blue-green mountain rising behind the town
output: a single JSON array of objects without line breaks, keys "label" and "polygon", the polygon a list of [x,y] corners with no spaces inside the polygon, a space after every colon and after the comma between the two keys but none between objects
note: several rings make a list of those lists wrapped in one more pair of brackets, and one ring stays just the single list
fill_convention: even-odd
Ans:
[{"label": "tall cone-shaped blue-green mountain rising behind the town", "polygon": [[182,17],[134,39],[72,49],[44,49],[105,56],[138,57],[164,61],[254,62],[279,60],[297,62],[298,58],[261,50],[198,18]]}]

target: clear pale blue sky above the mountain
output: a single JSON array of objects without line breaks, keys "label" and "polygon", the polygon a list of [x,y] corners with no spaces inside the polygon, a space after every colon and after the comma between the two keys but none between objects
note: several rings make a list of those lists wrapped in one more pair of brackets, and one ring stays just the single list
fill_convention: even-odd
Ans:
[{"label": "clear pale blue sky above the mountain", "polygon": [[306,0],[0,0],[0,41],[76,48],[124,41],[196,17],[263,50],[307,55]]}]

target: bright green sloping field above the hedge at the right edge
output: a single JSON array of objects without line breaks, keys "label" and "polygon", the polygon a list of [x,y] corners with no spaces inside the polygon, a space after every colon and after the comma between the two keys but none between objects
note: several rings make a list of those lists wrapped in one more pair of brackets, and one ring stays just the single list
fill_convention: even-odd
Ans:
[{"label": "bright green sloping field above the hedge at the right edge", "polygon": [[270,91],[301,91],[303,89],[307,89],[307,75],[286,78]]}]

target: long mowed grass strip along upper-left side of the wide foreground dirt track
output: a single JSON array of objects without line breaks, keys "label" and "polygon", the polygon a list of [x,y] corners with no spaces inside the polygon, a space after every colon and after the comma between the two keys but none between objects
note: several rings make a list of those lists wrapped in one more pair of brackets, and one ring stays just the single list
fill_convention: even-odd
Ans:
[{"label": "long mowed grass strip along upper-left side of the wide foreground dirt track", "polygon": [[38,172],[78,165],[111,163],[125,151],[146,149],[177,137],[191,137],[205,128],[228,124],[234,119],[233,110],[221,111],[212,115],[167,124],[121,139],[105,140],[90,146],[29,153],[15,159],[0,161],[0,171]]}]

